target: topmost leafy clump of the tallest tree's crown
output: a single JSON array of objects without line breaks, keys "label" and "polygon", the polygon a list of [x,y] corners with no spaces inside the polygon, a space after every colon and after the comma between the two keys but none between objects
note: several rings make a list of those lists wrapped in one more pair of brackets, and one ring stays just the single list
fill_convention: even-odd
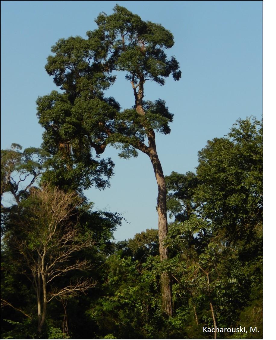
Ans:
[{"label": "topmost leafy clump of the tallest tree's crown", "polygon": [[135,84],[143,78],[164,85],[171,73],[174,80],[180,79],[177,60],[165,53],[174,44],[173,35],[162,25],[143,21],[119,5],[114,14],[101,13],[95,22],[98,29],[87,32],[95,44],[95,61],[105,60],[110,69],[127,71],[126,78]]}]

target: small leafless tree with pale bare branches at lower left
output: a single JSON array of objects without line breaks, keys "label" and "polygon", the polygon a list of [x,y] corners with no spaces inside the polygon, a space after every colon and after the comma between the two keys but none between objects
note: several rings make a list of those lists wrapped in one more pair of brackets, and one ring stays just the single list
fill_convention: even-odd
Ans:
[{"label": "small leafless tree with pale bare branches at lower left", "polygon": [[[66,279],[59,279],[72,271],[92,267],[89,260],[78,259],[79,251],[92,246],[91,239],[84,240],[80,233],[76,210],[81,203],[74,192],[32,188],[29,198],[9,217],[9,230],[3,242],[13,253],[11,259],[18,271],[30,280],[35,291],[40,333],[47,304],[53,298],[64,299],[95,286],[89,278],[77,277],[63,285]],[[24,310],[1,300],[30,318]]]}]

